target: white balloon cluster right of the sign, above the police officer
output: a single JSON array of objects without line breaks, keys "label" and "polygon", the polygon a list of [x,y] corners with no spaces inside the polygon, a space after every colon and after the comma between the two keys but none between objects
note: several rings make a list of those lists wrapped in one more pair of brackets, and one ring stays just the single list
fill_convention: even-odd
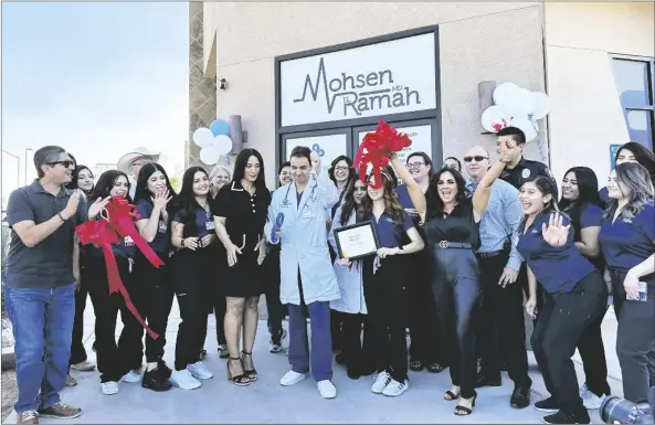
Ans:
[{"label": "white balloon cluster right of the sign, above the police officer", "polygon": [[530,92],[514,83],[503,83],[496,87],[494,104],[483,113],[483,127],[490,132],[498,132],[505,127],[517,127],[526,134],[526,141],[537,138],[537,120],[550,111],[548,95]]}]

